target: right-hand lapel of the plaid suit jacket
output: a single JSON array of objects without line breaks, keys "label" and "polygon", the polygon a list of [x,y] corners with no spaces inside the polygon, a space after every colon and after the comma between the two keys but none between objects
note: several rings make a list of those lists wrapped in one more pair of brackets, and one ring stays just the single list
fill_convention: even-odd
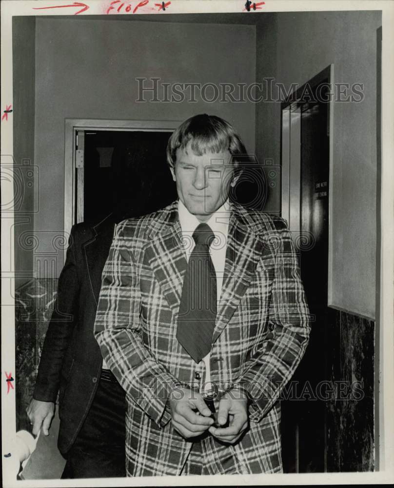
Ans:
[{"label": "right-hand lapel of the plaid suit jacket", "polygon": [[212,338],[215,343],[233,316],[256,272],[256,266],[265,253],[271,253],[264,238],[261,220],[245,209],[232,206],[229,222],[223,285]]}]

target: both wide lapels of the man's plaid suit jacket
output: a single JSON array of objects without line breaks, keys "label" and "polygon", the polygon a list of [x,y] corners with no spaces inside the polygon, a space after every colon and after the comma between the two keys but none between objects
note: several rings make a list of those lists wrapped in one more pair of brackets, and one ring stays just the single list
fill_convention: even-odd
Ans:
[{"label": "both wide lapels of the man's plaid suit jacket", "polygon": [[[268,233],[264,235],[267,230],[261,218],[254,217],[253,213],[242,207],[232,205],[223,285],[212,343],[233,316],[250,285],[261,256],[272,252],[267,242]],[[144,262],[153,270],[170,307],[177,309],[187,268],[177,201],[158,213],[147,235],[149,242],[145,248]]]}]

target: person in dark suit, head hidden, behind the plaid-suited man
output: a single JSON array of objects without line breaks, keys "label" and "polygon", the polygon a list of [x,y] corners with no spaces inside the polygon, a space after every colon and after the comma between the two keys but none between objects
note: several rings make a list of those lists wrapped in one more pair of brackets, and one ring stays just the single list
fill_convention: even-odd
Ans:
[{"label": "person in dark suit, head hidden, behind the plaid-suited man", "polygon": [[48,430],[59,392],[62,478],[125,476],[125,393],[103,365],[93,335],[101,272],[114,233],[112,215],[71,229],[66,263],[27,413],[33,434]]}]

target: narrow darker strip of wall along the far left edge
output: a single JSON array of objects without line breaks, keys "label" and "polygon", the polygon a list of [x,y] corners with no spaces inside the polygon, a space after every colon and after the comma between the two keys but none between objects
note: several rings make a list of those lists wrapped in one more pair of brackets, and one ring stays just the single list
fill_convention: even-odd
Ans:
[{"label": "narrow darker strip of wall along the far left edge", "polygon": [[[12,18],[15,287],[33,276],[35,17]],[[29,237],[30,236],[30,237]],[[10,239],[12,243],[12,239]]]}]

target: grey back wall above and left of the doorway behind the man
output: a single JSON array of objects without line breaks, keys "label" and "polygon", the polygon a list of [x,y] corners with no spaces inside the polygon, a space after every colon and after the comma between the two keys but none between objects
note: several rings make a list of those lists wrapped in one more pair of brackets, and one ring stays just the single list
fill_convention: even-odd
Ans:
[{"label": "grey back wall above and left of the doorway behind the man", "polygon": [[[183,121],[206,112],[234,124],[254,151],[252,102],[209,103],[199,96],[197,102],[136,102],[136,78],[249,85],[256,79],[255,35],[251,25],[37,18],[35,157],[40,180],[35,231],[42,243],[41,264],[42,256],[51,255],[47,261],[53,263],[56,254],[54,272],[59,275],[63,263],[62,250],[53,243],[63,232],[64,119]],[[206,95],[212,98],[213,92]],[[52,264],[46,266],[44,276],[52,273]]]}]

